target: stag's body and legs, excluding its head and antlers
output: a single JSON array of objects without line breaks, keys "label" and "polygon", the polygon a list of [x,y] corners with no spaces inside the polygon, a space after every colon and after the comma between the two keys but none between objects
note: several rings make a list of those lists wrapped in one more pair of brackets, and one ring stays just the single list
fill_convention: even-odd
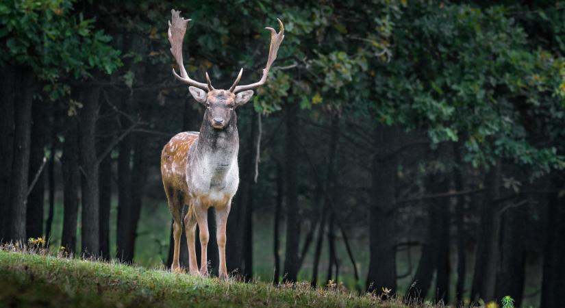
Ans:
[{"label": "stag's body and legs, excluding its head and antlers", "polygon": [[[196,250],[194,248],[194,229],[198,222],[201,226],[201,264],[207,264],[206,245],[208,244],[208,208],[216,211],[216,236],[218,247],[225,247],[225,227],[231,208],[231,198],[239,185],[238,149],[239,136],[235,125],[218,131],[209,125],[203,125],[201,131],[177,133],[164,146],[161,152],[161,174],[163,186],[168,198],[169,209],[173,214],[173,232],[180,235],[182,207],[188,205],[188,214],[184,217],[188,235],[190,272],[196,274]],[[222,249],[221,249],[222,250]],[[174,260],[178,261],[175,251]],[[225,253],[220,252],[225,264]],[[173,261],[173,268],[179,264]],[[201,267],[201,274],[207,274],[208,268]],[[225,265],[221,273],[227,272]]]}]

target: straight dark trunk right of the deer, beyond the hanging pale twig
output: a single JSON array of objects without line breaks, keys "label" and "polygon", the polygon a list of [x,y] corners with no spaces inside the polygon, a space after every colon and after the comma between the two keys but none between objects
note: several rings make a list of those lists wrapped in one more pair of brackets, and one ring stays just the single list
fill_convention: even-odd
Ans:
[{"label": "straight dark trunk right of the deer, beyond the hanging pale twig", "polygon": [[299,221],[298,221],[298,103],[286,106],[286,249],[284,282],[296,282],[298,274]]}]

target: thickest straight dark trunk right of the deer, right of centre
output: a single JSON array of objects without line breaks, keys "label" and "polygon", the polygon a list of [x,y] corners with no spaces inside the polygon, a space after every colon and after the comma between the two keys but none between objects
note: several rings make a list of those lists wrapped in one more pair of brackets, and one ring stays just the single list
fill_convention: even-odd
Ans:
[{"label": "thickest straight dark trunk right of the deer, right of centre", "polygon": [[369,209],[369,270],[368,292],[381,293],[387,287],[396,292],[396,179],[397,127],[379,126],[375,129],[377,152],[371,170],[371,208]]}]

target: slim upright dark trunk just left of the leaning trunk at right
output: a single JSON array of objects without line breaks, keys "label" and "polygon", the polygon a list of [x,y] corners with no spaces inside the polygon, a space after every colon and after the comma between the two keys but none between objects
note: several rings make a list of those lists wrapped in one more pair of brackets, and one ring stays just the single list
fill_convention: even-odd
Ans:
[{"label": "slim upright dark trunk just left of the leaning trunk at right", "polygon": [[[455,158],[456,170],[454,174],[455,190],[462,192],[464,189],[463,181],[463,162],[461,159],[460,147],[453,144],[453,157]],[[455,285],[455,298],[457,305],[463,303],[465,292],[466,277],[466,235],[465,235],[465,196],[460,195],[455,198],[455,226],[457,226],[457,283]]]}]

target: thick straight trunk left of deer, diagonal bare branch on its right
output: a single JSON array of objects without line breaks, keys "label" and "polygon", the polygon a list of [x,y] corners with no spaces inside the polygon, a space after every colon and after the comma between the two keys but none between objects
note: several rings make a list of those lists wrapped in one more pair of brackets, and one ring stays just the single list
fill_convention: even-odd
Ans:
[{"label": "thick straight trunk left of deer, diagonal bare branch on its right", "polygon": [[80,164],[81,164],[81,244],[82,255],[100,254],[99,162],[96,151],[96,122],[98,120],[100,88],[81,90]]}]

